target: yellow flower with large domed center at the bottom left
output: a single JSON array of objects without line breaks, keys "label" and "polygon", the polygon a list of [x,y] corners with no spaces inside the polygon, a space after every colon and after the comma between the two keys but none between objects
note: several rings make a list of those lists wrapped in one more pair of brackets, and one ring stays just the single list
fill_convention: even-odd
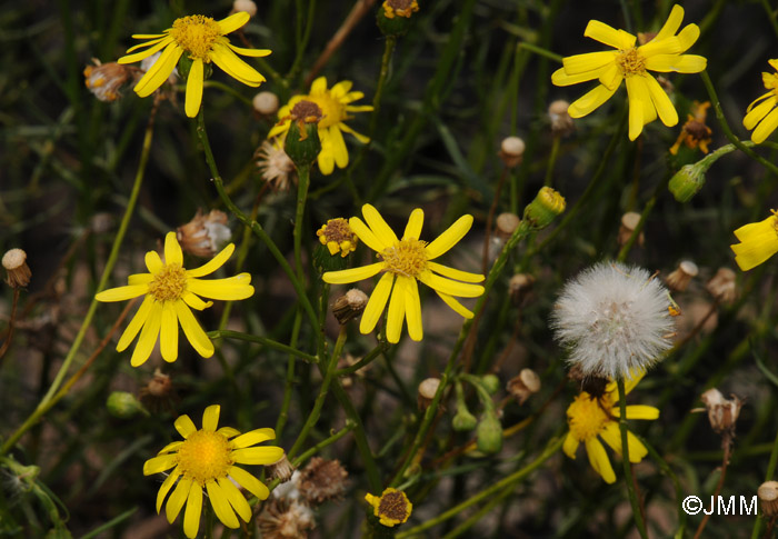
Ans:
[{"label": "yellow flower with large domed center at the bottom left", "polygon": [[248,522],[251,507],[235,483],[260,500],[267,499],[270,491],[262,481],[235,465],[272,465],[283,457],[280,447],[251,447],[275,439],[272,429],[257,429],[245,435],[232,427],[217,430],[219,411],[218,405],[206,408],[200,430],[189,416],[179,417],[174,425],[183,441],[168,443],[157,457],[143,463],[144,476],[173,469],[157,493],[157,512],[176,485],[166,506],[168,522],[176,520],[186,503],[183,532],[190,539],[197,536],[200,527],[203,489],[219,520],[228,528],[239,528],[236,513]]}]

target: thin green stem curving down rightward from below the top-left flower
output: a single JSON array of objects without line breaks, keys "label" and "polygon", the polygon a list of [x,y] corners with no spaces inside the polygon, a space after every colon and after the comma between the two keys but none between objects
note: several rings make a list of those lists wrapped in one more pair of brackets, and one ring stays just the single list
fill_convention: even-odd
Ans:
[{"label": "thin green stem curving down rightward from below the top-left flower", "polygon": [[300,302],[302,303],[302,308],[306,311],[306,315],[308,315],[308,318],[311,322],[311,326],[313,328],[318,328],[319,326],[319,319],[316,316],[316,312],[313,311],[313,307],[311,306],[310,300],[308,299],[308,296],[306,295],[306,289],[302,287],[302,283],[300,280],[295,276],[295,271],[292,271],[291,266],[289,266],[289,262],[287,262],[287,259],[283,257],[281,251],[278,249],[276,246],[276,242],[268,236],[268,233],[265,231],[265,229],[259,224],[259,222],[253,221],[246,217],[246,213],[243,213],[236,204],[232,202],[232,199],[230,199],[229,194],[227,194],[227,191],[225,191],[225,182],[221,179],[221,176],[219,174],[219,169],[216,166],[216,160],[213,159],[213,152],[211,151],[211,144],[208,141],[208,132],[206,131],[206,118],[202,113],[202,108],[200,108],[200,112],[197,114],[197,136],[200,139],[200,142],[202,143],[202,151],[206,153],[206,162],[208,162],[208,168],[211,171],[211,174],[213,176],[212,181],[213,186],[216,187],[216,190],[219,192],[219,197],[221,198],[221,201],[225,202],[225,206],[230,210],[230,212],[238,218],[238,220],[246,227],[251,228],[251,231],[259,237],[260,240],[265,242],[265,244],[268,247],[270,252],[272,253],[273,258],[278,261],[278,263],[281,266],[281,269],[283,272],[287,275],[289,280],[292,283],[292,287],[295,288],[295,292],[297,292],[297,297],[299,298]]}]

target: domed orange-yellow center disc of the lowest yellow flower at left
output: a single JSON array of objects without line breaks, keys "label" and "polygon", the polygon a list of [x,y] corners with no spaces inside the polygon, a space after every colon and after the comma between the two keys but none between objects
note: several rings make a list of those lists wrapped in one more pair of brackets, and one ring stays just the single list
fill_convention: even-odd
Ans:
[{"label": "domed orange-yellow center disc of the lowest yellow flower at left", "polygon": [[178,449],[178,466],[187,479],[205,486],[227,472],[233,465],[227,437],[219,432],[198,430],[189,435]]}]

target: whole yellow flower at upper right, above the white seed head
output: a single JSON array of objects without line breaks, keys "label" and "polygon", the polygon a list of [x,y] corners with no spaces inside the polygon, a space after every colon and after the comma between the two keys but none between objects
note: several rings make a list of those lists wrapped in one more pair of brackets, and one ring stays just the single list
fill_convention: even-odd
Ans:
[{"label": "whole yellow flower at upper right, above the white seed head", "polygon": [[678,123],[678,112],[670,98],[648,70],[698,73],[706,68],[705,58],[684,54],[697,41],[700,30],[697,24],[687,24],[676,36],[682,19],[684,8],[674,6],[659,33],[640,47],[635,46],[636,36],[600,21],[589,21],[584,36],[616,50],[562,59],[563,67],[551,76],[555,84],[570,86],[589,80],[600,83],[570,104],[570,117],[581,118],[592,112],[610,99],[624,80],[629,98],[629,140],[638,138],[644,126],[656,120],[657,114],[665,126]]}]

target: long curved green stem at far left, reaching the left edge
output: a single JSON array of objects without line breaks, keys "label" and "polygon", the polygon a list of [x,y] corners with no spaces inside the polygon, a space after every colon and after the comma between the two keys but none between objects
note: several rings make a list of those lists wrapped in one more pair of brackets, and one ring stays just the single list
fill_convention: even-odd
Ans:
[{"label": "long curved green stem at far left, reaching the left edge", "polygon": [[[106,285],[108,283],[108,278],[111,276],[111,272],[113,271],[113,267],[117,263],[117,260],[119,258],[119,249],[121,248],[121,242],[124,240],[124,234],[127,233],[127,229],[130,226],[130,219],[132,217],[132,212],[134,211],[136,203],[138,202],[138,196],[140,194],[140,187],[143,183],[143,174],[146,173],[146,166],[149,162],[149,154],[151,152],[151,141],[153,140],[153,127],[154,127],[154,118],[157,117],[157,109],[159,107],[159,101],[157,98],[154,98],[154,102],[151,107],[151,112],[149,113],[149,121],[146,124],[146,134],[143,136],[143,147],[141,148],[140,152],[140,162],[138,163],[138,170],[136,171],[136,178],[134,182],[132,183],[132,190],[130,191],[130,199],[127,202],[127,208],[124,209],[124,214],[121,218],[121,223],[119,224],[119,230],[117,231],[117,236],[113,239],[113,246],[111,247],[111,252],[108,256],[108,261],[106,262],[106,268],[102,270],[102,276],[100,277],[100,282],[98,283],[97,291],[100,292],[106,288]],[[38,403],[38,407],[36,410],[30,415],[30,417],[27,418],[27,420],[19,427],[13,435],[11,435],[0,447],[0,455],[6,455],[8,451],[11,450],[11,448],[16,445],[17,441],[27,432],[32,426],[46,413],[46,411],[50,408],[49,403],[50,401],[54,398],[57,395],[57,390],[60,388],[62,385],[62,380],[64,379],[64,376],[68,373],[68,370],[70,369],[71,363],[76,359],[76,355],[79,351],[79,348],[81,347],[81,342],[83,341],[84,336],[87,335],[87,330],[92,323],[92,318],[94,318],[94,312],[97,311],[97,306],[98,301],[92,297],[92,302],[89,305],[89,310],[87,311],[87,316],[83,319],[83,322],[81,322],[81,328],[79,329],[78,335],[76,336],[76,339],[73,340],[73,343],[70,346],[70,350],[68,350],[68,355],[64,358],[64,361],[62,362],[62,366],[60,367],[59,371],[57,372],[57,376],[54,377],[54,381],[51,382],[51,387],[49,390],[46,392],[41,401]]]}]

